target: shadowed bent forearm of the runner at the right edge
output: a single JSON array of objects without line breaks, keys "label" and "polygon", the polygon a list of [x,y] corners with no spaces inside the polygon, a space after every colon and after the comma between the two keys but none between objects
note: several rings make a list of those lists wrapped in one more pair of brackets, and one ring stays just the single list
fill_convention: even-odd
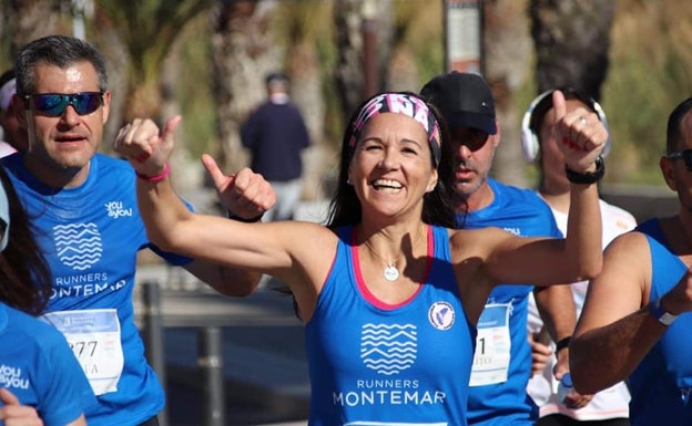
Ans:
[{"label": "shadowed bent forearm of the runner at the right edge", "polygon": [[578,325],[570,344],[574,388],[596,394],[625,380],[664,332],[648,308],[584,333]]}]

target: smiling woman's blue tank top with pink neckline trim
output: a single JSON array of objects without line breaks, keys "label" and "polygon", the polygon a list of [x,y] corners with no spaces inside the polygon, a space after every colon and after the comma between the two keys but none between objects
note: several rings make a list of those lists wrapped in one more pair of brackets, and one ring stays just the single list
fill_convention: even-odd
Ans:
[{"label": "smiling woman's blue tank top with pink neckline trim", "polygon": [[430,227],[425,282],[385,304],[360,276],[353,227],[305,328],[309,425],[466,425],[475,331],[454,276],[448,231]]}]

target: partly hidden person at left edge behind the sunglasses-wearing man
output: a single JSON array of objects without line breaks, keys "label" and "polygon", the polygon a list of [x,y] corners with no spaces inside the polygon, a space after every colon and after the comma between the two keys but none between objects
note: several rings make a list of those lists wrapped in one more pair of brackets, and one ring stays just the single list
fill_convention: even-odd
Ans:
[{"label": "partly hidden person at left edge behind the sunglasses-wearing man", "polygon": [[0,75],[0,126],[2,127],[0,157],[26,149],[28,146],[27,131],[19,126],[12,102],[16,87],[14,69],[9,69]]}]

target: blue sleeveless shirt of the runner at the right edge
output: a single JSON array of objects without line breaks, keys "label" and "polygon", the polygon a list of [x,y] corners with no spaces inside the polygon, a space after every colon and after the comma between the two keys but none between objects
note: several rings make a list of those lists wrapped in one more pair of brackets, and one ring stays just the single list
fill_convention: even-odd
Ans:
[{"label": "blue sleeveless shirt of the runner at the right edge", "polygon": [[[647,236],[651,250],[650,300],[660,299],[675,287],[688,267],[669,250],[658,219],[641,224],[637,230]],[[689,401],[692,389],[691,334],[692,315],[678,316],[628,378],[632,394],[632,426],[692,425],[692,403]]]}]

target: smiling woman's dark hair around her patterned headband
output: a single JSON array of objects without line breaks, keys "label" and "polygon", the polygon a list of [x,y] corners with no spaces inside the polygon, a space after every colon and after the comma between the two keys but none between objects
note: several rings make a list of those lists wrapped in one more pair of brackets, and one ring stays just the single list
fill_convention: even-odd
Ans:
[{"label": "smiling woman's dark hair around her patterned headband", "polygon": [[[397,93],[415,96],[416,98],[424,101],[439,123],[441,156],[439,164],[437,165],[438,180],[435,188],[424,196],[421,219],[424,222],[429,225],[438,225],[447,228],[454,228],[456,225],[455,208],[451,204],[454,194],[454,170],[447,123],[442,118],[440,112],[435,107],[435,105],[428,103],[420,95],[413,92]],[[355,152],[355,146],[350,146],[349,142],[354,132],[354,123],[358,117],[360,110],[376,96],[378,95],[365,100],[356,108],[354,114],[350,116],[350,120],[348,121],[348,124],[344,132],[344,138],[342,141],[342,152],[339,156],[338,180],[336,183],[336,190],[332,198],[329,212],[327,216],[327,226],[330,228],[336,228],[344,225],[355,225],[360,222],[362,220],[363,210],[360,206],[360,200],[358,199],[358,196],[356,195],[353,185],[349,185],[347,183],[348,166]]]}]

